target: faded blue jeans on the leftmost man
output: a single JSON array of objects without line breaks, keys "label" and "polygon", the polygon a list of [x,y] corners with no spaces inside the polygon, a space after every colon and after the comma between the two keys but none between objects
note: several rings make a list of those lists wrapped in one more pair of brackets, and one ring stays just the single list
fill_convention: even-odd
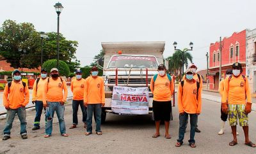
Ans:
[{"label": "faded blue jeans on the leftmost man", "polygon": [[12,123],[15,118],[15,114],[17,113],[19,120],[20,120],[20,135],[26,135],[27,134],[27,122],[26,122],[26,108],[17,108],[17,109],[10,109],[7,110],[6,114],[6,124],[4,127],[4,136],[10,136],[11,135],[11,129],[12,129]]}]

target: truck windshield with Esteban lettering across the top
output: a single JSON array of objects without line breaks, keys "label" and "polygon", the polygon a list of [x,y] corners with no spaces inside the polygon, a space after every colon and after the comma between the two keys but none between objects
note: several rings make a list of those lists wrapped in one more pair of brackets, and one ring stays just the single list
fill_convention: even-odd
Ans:
[{"label": "truck windshield with Esteban lettering across the top", "polygon": [[109,62],[108,68],[157,68],[155,57],[149,56],[113,56]]}]

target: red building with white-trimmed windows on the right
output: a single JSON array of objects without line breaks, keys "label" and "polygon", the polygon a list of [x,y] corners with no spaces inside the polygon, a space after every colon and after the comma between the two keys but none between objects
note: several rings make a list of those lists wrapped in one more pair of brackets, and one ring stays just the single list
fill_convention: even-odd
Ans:
[{"label": "red building with white-trimmed windows on the right", "polygon": [[[246,73],[246,33],[248,30],[234,32],[232,36],[225,37],[221,41],[211,43],[209,52],[209,87],[218,90],[219,81],[225,78],[225,71],[232,68],[234,62],[240,62],[243,73]],[[220,79],[220,60],[221,60],[221,79]]]}]

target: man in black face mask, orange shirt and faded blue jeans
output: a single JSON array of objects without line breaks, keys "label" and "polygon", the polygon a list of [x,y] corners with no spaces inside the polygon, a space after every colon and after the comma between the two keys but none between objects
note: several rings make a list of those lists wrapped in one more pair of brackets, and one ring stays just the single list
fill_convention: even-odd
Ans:
[{"label": "man in black face mask, orange shirt and faded blue jeans", "polygon": [[43,93],[44,108],[48,107],[51,115],[51,120],[47,119],[45,125],[44,137],[50,137],[52,135],[52,120],[54,116],[54,111],[56,111],[56,114],[58,116],[61,136],[68,136],[68,134],[66,133],[66,126],[64,120],[64,103],[65,101],[67,101],[67,95],[68,89],[66,81],[60,77],[58,69],[52,68],[51,78],[48,78],[47,83],[45,83]]}]

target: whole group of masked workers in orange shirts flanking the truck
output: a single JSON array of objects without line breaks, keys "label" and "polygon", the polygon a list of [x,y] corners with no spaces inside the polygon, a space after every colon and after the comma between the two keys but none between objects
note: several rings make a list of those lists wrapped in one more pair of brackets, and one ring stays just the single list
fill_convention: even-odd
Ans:
[{"label": "whole group of masked workers in orange shirts flanking the truck", "polygon": [[[195,132],[198,129],[198,115],[202,111],[202,76],[196,74],[196,65],[192,63],[186,70],[178,88],[178,106],[179,106],[179,137],[175,146],[180,147],[183,144],[184,134],[188,125],[188,116],[190,117],[190,139],[189,146],[195,148]],[[241,74],[243,72],[240,63],[232,65],[232,70],[227,70],[225,80],[220,83],[221,94],[221,130],[218,134],[223,134],[224,125],[229,120],[234,139],[229,143],[230,146],[237,144],[236,125],[243,127],[245,142],[248,146],[255,147],[248,134],[248,114],[252,111],[252,98],[248,86],[248,78]],[[104,80],[98,76],[97,67],[91,69],[91,76],[85,80],[82,78],[82,72],[76,71],[76,78],[71,81],[71,90],[73,92],[73,124],[70,129],[75,129],[78,124],[77,111],[79,106],[83,113],[85,135],[92,134],[92,115],[94,113],[96,120],[96,134],[101,135],[100,129],[102,106],[105,104]],[[51,69],[51,77],[47,77],[47,71],[42,69],[41,77],[33,85],[32,102],[35,104],[36,116],[32,130],[40,129],[40,118],[42,110],[45,109],[45,136],[52,135],[52,119],[54,112],[58,116],[61,136],[67,137],[65,128],[64,110],[67,101],[67,84],[60,77],[56,68]],[[156,133],[154,138],[160,136],[159,126],[161,120],[164,121],[166,139],[170,139],[169,125],[172,119],[172,95],[174,91],[174,82],[172,76],[166,73],[166,67],[163,64],[158,66],[158,74],[150,81],[150,90],[153,97],[153,112],[156,123]],[[26,130],[26,109],[29,102],[28,85],[21,81],[20,71],[13,71],[13,81],[6,84],[4,88],[3,104],[7,110],[6,125],[4,127],[3,140],[10,139],[10,130],[12,129],[15,114],[20,120],[20,135],[22,139],[27,139]]]}]

